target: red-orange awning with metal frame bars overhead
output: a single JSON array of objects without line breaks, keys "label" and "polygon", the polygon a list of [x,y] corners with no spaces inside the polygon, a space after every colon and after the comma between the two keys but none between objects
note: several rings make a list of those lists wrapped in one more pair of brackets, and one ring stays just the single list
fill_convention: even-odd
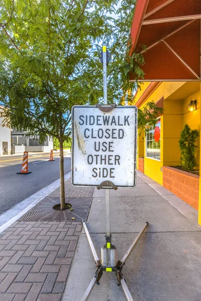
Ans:
[{"label": "red-orange awning with metal frame bars overhead", "polygon": [[200,80],[200,0],[137,0],[131,37],[131,54],[145,58],[143,81]]}]

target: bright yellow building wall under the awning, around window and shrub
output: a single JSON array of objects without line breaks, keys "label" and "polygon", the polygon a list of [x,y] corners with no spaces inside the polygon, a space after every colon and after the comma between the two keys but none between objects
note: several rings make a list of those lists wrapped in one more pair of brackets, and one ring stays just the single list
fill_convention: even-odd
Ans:
[{"label": "bright yellow building wall under the awning, around window and shrub", "polygon": [[[136,94],[133,104],[139,100],[149,85],[150,82],[146,82],[144,85],[141,85],[141,90],[139,90]],[[163,115],[161,116],[161,161],[159,162],[154,159],[146,158],[146,139],[144,139],[143,146],[143,140],[141,138],[139,138],[138,142],[138,157],[143,157],[142,152],[144,151],[145,175],[161,185],[163,185],[161,168],[163,166],[179,165],[180,149],[178,141],[180,139],[180,133],[184,127],[184,124],[187,123],[192,129],[200,128],[200,91],[194,92],[185,98],[184,96],[189,91],[189,85],[191,84],[185,82],[162,82],[159,87],[149,96],[149,98],[140,106],[140,109],[143,109],[147,102],[157,102],[162,97],[164,98],[164,111]],[[193,90],[194,86],[191,88]],[[194,112],[188,112],[188,103],[191,99],[197,100],[197,110]],[[199,148],[197,149],[195,156],[198,165]]]}]

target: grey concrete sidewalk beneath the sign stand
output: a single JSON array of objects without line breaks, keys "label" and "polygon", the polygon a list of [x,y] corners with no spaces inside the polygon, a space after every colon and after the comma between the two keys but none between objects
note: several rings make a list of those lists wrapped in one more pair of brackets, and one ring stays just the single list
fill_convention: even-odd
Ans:
[{"label": "grey concrete sidewalk beneath the sign stand", "polygon": [[[201,300],[201,232],[197,212],[140,174],[134,189],[111,191],[111,232],[122,259],[143,224],[138,245],[123,268],[134,301]],[[143,178],[144,177],[144,178]],[[100,257],[105,244],[105,191],[94,190],[87,227]],[[95,272],[84,230],[79,237],[63,301],[80,301]],[[115,273],[104,273],[89,301],[126,301]]]}]

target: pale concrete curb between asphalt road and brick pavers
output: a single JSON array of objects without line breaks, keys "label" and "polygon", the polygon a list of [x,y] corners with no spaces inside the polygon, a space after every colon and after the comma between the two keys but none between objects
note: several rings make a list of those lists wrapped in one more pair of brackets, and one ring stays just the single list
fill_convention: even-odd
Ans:
[{"label": "pale concrete curb between asphalt road and brick pavers", "polygon": [[[64,181],[71,177],[71,172],[64,176]],[[5,213],[0,215],[0,233],[5,229],[10,227],[14,222],[21,218],[25,213],[35,207],[40,201],[47,197],[51,192],[60,186],[60,179],[54,181],[45,188],[39,190],[29,198],[21,201],[11,209],[7,210]]]}]

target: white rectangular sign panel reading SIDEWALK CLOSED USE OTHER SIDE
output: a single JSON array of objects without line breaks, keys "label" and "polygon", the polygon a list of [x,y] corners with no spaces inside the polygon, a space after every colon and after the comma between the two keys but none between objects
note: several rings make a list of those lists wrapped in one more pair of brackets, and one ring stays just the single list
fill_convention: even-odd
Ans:
[{"label": "white rectangular sign panel reading SIDEWALK CLOSED USE OTHER SIDE", "polygon": [[137,107],[72,108],[72,185],[136,185]]}]

